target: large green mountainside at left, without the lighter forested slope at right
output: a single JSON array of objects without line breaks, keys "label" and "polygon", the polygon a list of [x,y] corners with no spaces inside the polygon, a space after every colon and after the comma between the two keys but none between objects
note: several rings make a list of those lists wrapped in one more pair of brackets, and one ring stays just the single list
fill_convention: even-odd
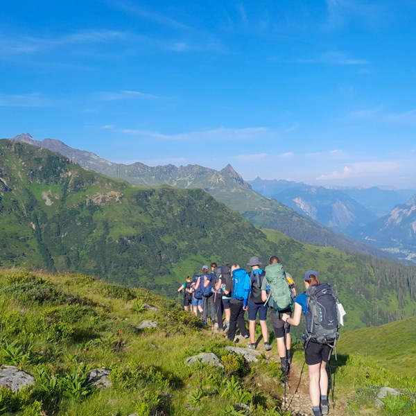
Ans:
[{"label": "large green mountainside at left, without the lighter forested slope at right", "polygon": [[185,273],[277,250],[200,189],[134,187],[49,150],[0,141],[0,261],[172,295]]}]

